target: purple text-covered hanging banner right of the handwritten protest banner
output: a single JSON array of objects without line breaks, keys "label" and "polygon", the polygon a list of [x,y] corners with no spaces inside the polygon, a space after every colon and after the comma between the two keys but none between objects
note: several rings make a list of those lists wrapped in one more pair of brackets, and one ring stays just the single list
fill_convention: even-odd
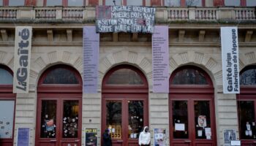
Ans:
[{"label": "purple text-covered hanging banner right of the handwritten protest banner", "polygon": [[155,26],[152,35],[153,92],[169,93],[168,26]]}]

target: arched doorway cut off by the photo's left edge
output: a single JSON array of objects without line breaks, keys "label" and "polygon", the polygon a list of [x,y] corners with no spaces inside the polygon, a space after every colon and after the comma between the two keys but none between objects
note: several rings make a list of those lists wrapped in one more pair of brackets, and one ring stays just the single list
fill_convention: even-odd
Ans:
[{"label": "arched doorway cut off by the photo's left edge", "polygon": [[12,93],[12,70],[0,65],[0,144],[13,145],[15,94]]}]

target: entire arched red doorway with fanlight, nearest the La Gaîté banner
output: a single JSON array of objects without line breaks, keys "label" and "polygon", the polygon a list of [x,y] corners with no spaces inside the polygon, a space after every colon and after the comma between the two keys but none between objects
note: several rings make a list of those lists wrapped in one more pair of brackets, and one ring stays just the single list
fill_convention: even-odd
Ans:
[{"label": "entire arched red doorway with fanlight, nearest the La Ga\u00eet\u00e9 banner", "polygon": [[37,146],[80,146],[82,79],[67,65],[47,69],[37,88]]}]

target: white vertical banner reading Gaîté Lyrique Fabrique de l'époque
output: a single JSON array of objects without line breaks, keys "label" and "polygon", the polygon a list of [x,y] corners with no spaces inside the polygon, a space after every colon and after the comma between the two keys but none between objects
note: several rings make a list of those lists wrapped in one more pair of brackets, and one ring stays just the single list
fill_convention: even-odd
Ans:
[{"label": "white vertical banner reading Ga\u00eet\u00e9 Lyrique Fabrique de l'\u00e9poque", "polygon": [[221,38],[223,93],[240,93],[237,27],[222,27]]}]

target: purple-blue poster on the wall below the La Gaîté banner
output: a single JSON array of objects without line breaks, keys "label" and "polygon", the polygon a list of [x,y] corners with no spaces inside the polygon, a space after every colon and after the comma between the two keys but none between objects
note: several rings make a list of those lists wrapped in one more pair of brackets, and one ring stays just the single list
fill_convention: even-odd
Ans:
[{"label": "purple-blue poster on the wall below the La Ga\u00eet\u00e9 banner", "polygon": [[29,146],[29,128],[18,128],[17,146]]}]

